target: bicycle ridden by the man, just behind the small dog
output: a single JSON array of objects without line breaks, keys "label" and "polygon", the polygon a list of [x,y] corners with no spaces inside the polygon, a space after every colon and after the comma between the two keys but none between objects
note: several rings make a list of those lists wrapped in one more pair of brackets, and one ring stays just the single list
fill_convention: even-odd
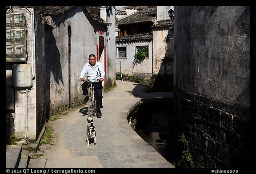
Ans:
[{"label": "bicycle ridden by the man, just behind the small dog", "polygon": [[[85,81],[85,80],[83,80]],[[96,80],[99,81],[99,80]],[[93,122],[93,116],[96,116],[97,113],[97,97],[96,97],[96,92],[94,90],[94,82],[96,81],[88,81],[89,84],[87,86],[88,88],[88,117],[87,121],[88,123]]]}]

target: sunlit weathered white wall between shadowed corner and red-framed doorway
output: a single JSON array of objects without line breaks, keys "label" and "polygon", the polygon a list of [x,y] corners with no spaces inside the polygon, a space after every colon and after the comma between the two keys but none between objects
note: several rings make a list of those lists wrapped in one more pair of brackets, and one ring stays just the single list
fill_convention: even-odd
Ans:
[{"label": "sunlit weathered white wall between shadowed corner and red-framed doorway", "polygon": [[[95,54],[96,45],[98,44],[99,31],[94,32],[94,28],[85,17],[84,12],[80,9],[65,12],[65,15],[70,16],[64,19],[64,15],[52,16],[52,38],[55,39],[55,48],[49,51],[50,55],[56,53],[55,67],[50,70],[50,108],[58,108],[63,105],[68,105],[68,26],[71,26],[71,93],[72,102],[77,99],[82,99],[82,89],[80,82],[80,72],[83,66],[88,62],[89,54]],[[58,25],[56,25],[58,24]],[[86,31],[86,32],[81,32]],[[50,42],[50,41],[48,41]],[[51,61],[51,60],[49,60]],[[100,62],[104,64],[104,59]],[[53,64],[54,62],[52,62]],[[77,98],[78,97],[78,98]]]}]

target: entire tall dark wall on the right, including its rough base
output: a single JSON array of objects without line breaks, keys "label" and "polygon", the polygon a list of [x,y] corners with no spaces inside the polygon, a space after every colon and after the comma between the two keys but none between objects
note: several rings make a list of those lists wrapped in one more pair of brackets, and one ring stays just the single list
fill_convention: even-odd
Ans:
[{"label": "entire tall dark wall on the right, including its rough base", "polygon": [[193,168],[250,167],[250,6],[175,6],[174,120]]}]

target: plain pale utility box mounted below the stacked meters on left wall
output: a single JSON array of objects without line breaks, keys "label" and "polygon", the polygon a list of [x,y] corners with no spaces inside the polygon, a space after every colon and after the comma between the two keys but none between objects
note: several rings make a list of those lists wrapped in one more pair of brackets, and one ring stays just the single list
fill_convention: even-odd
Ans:
[{"label": "plain pale utility box mounted below the stacked meters on left wall", "polygon": [[12,66],[14,88],[32,87],[32,69],[30,64],[14,64]]}]

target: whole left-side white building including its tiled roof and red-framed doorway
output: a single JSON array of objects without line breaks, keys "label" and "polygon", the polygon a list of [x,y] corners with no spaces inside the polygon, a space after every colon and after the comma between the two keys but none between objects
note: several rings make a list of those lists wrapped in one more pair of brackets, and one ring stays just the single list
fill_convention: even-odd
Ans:
[{"label": "whole left-side white building including its tiled roof and red-framed doorway", "polygon": [[[89,54],[95,54],[104,65],[104,88],[115,84],[114,6],[54,7],[58,9],[11,6],[6,10],[23,14],[27,26],[26,61],[6,62],[6,101],[10,104],[6,106],[6,120],[15,121],[12,127],[7,123],[6,129],[16,137],[36,139],[52,111],[81,104],[84,96],[78,79]],[[93,17],[90,10],[98,10],[105,19]],[[32,87],[28,93],[13,87],[14,64],[32,67]]]}]

